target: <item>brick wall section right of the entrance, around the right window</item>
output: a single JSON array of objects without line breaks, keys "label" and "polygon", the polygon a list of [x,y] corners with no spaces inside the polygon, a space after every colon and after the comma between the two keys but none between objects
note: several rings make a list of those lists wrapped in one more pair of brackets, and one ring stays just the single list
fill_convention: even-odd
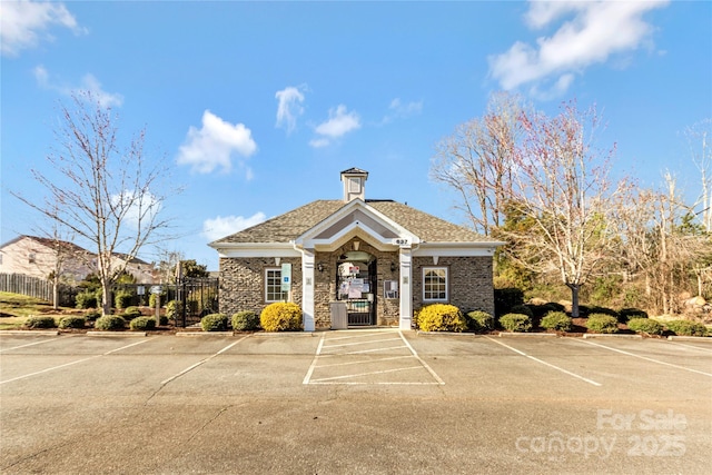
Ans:
[{"label": "brick wall section right of the entrance, around the right window", "polygon": [[423,267],[447,267],[448,304],[463,311],[484,310],[494,315],[492,257],[441,257],[437,265],[432,257],[413,258],[413,310],[423,301]]}]

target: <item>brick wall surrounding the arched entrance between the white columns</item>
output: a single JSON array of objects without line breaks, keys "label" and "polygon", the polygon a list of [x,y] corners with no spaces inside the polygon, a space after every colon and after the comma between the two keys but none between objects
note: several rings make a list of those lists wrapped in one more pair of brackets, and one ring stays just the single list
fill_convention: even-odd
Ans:
[{"label": "brick wall surrounding the arched entrance between the white columns", "polygon": [[[396,299],[386,299],[383,295],[384,280],[398,280],[398,253],[384,253],[370,246],[362,238],[352,239],[340,248],[333,253],[317,253],[315,263],[322,263],[324,271],[319,273],[315,269],[315,294],[314,294],[314,314],[315,325],[317,328],[328,328],[332,324],[329,303],[336,300],[336,268],[340,255],[354,250],[354,240],[360,243],[358,250],[368,253],[376,257],[376,275],[378,285],[375,293],[376,300],[376,324],[377,325],[398,325],[400,304]],[[390,264],[396,264],[396,270],[390,271]],[[316,267],[316,265],[315,265]]]}]

